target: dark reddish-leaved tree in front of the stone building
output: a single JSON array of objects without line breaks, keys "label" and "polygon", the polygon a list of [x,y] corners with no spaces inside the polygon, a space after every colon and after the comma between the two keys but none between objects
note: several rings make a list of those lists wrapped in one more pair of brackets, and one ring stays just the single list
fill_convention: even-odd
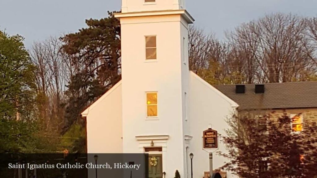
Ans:
[{"label": "dark reddish-leaved tree in front of the stone building", "polygon": [[223,137],[230,159],[223,168],[245,178],[312,178],[317,175],[316,123],[305,122],[300,132],[291,128],[285,113],[259,117],[254,112],[228,119],[228,137]]}]

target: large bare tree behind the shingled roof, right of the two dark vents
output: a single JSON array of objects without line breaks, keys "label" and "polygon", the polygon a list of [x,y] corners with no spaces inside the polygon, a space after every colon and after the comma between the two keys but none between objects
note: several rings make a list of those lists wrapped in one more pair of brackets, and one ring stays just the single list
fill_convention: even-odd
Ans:
[{"label": "large bare tree behind the shingled roof, right of the two dark vents", "polygon": [[[265,79],[268,82],[305,80],[314,70],[305,36],[304,19],[294,15],[274,14],[258,22]],[[308,54],[308,55],[307,55]]]}]

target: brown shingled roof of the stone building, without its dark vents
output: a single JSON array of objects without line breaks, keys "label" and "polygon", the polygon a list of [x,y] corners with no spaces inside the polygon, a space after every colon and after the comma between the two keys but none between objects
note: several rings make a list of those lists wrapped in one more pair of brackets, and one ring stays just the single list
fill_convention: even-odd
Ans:
[{"label": "brown shingled roof of the stone building, without its dark vents", "polygon": [[236,94],[236,85],[214,86],[246,109],[317,108],[317,82],[264,84],[264,93],[255,93],[255,84],[246,84],[245,93]]}]

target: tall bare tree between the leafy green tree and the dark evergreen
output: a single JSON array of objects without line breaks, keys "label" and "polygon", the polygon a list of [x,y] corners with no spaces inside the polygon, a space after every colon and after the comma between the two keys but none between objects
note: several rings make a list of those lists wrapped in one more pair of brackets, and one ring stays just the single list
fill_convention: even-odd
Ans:
[{"label": "tall bare tree between the leafy green tree and the dark evergreen", "polygon": [[38,90],[40,118],[46,130],[59,130],[63,124],[63,108],[66,84],[70,72],[67,56],[61,53],[61,41],[50,37],[37,42],[31,51],[32,61],[37,67],[36,85]]}]

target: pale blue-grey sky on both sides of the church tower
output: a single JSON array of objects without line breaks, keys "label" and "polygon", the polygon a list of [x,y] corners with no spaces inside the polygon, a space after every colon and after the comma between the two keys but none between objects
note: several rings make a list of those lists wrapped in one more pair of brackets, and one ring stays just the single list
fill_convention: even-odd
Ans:
[{"label": "pale blue-grey sky on both sides of the church tower", "polygon": [[[120,0],[0,0],[0,30],[35,41],[86,27],[85,19],[100,19],[120,10]],[[317,0],[186,0],[195,26],[224,39],[225,31],[275,12],[317,16]]]}]

